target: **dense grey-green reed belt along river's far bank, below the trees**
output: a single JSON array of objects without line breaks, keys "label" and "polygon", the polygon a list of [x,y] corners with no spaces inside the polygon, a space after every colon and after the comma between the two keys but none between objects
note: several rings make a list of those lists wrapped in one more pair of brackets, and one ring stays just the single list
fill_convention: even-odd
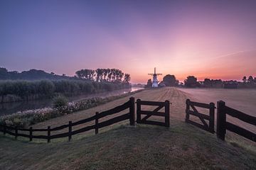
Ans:
[{"label": "dense grey-green reed belt along river's far bank, below the trees", "polygon": [[82,80],[6,80],[0,81],[0,102],[52,98],[58,94],[73,96],[129,88],[129,84]]}]

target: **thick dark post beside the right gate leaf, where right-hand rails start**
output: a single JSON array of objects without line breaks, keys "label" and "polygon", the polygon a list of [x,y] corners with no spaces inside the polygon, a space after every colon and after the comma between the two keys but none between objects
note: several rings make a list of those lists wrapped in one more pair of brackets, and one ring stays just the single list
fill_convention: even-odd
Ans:
[{"label": "thick dark post beside the right gate leaf, where right-hand rails start", "polygon": [[217,137],[220,140],[225,140],[225,122],[226,122],[226,115],[225,115],[225,102],[218,101],[217,102]]}]

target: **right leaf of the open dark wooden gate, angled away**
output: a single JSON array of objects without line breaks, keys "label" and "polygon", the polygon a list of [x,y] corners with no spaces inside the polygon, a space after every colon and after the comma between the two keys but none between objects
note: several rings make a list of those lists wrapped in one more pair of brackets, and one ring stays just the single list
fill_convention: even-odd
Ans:
[{"label": "right leaf of the open dark wooden gate, angled away", "polygon": [[[203,113],[199,113],[196,107],[200,108],[207,108],[209,109],[209,115],[205,115]],[[190,110],[192,108],[192,111]],[[214,111],[215,111],[215,105],[214,103],[197,103],[194,101],[190,101],[189,99],[186,100],[186,123],[190,123],[192,125],[197,126],[198,128],[201,128],[203,130],[206,130],[208,132],[214,133]],[[192,120],[189,120],[189,115],[194,115],[198,117],[201,122],[203,123],[196,123]],[[206,120],[209,121],[209,123],[206,123]]]}]

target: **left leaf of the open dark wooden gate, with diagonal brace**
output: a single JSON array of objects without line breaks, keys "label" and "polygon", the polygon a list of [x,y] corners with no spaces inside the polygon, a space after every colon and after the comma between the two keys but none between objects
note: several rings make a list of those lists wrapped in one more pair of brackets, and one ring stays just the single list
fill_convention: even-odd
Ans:
[{"label": "left leaf of the open dark wooden gate, with diagonal brace", "polygon": [[[142,111],[142,105],[158,107],[155,108],[154,111]],[[161,108],[164,108],[164,112],[160,112]],[[146,116],[142,118],[142,115]],[[164,117],[164,122],[147,120],[151,115]],[[170,127],[170,102],[141,101],[140,99],[137,99],[137,123]]]}]

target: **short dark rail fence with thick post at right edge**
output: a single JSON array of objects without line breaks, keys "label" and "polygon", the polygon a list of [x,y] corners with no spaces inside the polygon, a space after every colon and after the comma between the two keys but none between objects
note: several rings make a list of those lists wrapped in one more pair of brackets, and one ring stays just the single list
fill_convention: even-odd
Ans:
[{"label": "short dark rail fence with thick post at right edge", "polygon": [[220,140],[225,140],[225,132],[226,130],[230,130],[231,132],[235,132],[238,135],[246,137],[249,140],[256,142],[256,134],[246,130],[244,128],[240,128],[238,125],[234,125],[233,123],[229,123],[226,120],[226,115],[230,115],[234,118],[238,118],[246,123],[256,126],[256,117],[251,115],[247,115],[240,111],[237,111],[233,108],[225,106],[224,101],[217,102],[217,137]]}]

